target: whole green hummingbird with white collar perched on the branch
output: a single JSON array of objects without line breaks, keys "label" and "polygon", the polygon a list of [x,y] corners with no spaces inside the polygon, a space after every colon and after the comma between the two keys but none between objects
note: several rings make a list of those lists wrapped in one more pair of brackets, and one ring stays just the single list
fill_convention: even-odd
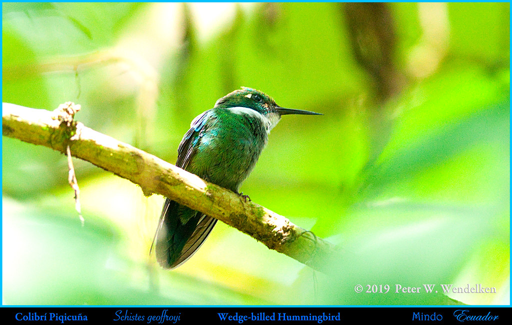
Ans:
[{"label": "whole green hummingbird with white collar perched on the branch", "polygon": [[[258,161],[270,130],[281,116],[289,114],[322,115],[286,109],[252,88],[235,90],[190,123],[178,146],[176,166],[243,196],[239,188]],[[166,198],[154,239],[160,266],[174,269],[185,263],[216,222]]]}]

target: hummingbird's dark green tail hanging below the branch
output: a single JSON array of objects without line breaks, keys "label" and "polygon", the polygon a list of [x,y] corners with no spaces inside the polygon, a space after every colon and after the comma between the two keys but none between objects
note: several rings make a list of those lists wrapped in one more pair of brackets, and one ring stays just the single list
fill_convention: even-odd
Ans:
[{"label": "hummingbird's dark green tail hanging below the branch", "polygon": [[165,269],[185,263],[206,240],[217,219],[165,199],[155,234],[157,261]]}]

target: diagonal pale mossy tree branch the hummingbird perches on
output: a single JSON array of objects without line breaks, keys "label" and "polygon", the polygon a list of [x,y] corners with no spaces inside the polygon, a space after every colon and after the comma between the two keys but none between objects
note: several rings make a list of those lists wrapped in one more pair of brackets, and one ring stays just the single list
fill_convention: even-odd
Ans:
[{"label": "diagonal pale mossy tree branch the hummingbird perches on", "polygon": [[270,249],[328,273],[328,262],[338,253],[333,244],[282,215],[245,202],[236,193],[72,120],[76,112],[73,107],[78,105],[61,106],[66,109],[51,112],[3,103],[3,135],[61,153],[66,153],[69,145],[72,156],[138,184],[146,196],[157,193],[173,199],[249,234]]}]

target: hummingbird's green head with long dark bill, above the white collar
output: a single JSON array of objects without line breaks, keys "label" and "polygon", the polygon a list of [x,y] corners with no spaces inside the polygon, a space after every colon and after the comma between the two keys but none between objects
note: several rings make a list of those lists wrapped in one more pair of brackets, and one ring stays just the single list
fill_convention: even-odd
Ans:
[{"label": "hummingbird's green head with long dark bill, above the white collar", "polygon": [[310,111],[285,109],[276,104],[274,99],[264,92],[248,87],[242,87],[242,89],[237,89],[220,98],[215,103],[215,107],[225,109],[229,109],[230,107],[246,107],[268,118],[275,116],[278,121],[282,115],[286,114],[322,115]]}]

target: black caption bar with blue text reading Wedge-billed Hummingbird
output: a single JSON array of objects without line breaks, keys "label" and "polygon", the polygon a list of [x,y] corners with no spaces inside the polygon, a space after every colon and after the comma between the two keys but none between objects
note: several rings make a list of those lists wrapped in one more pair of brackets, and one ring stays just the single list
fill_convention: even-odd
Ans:
[{"label": "black caption bar with blue text reading Wedge-billed Hummingbird", "polygon": [[3,307],[9,324],[510,323],[507,307]]}]

